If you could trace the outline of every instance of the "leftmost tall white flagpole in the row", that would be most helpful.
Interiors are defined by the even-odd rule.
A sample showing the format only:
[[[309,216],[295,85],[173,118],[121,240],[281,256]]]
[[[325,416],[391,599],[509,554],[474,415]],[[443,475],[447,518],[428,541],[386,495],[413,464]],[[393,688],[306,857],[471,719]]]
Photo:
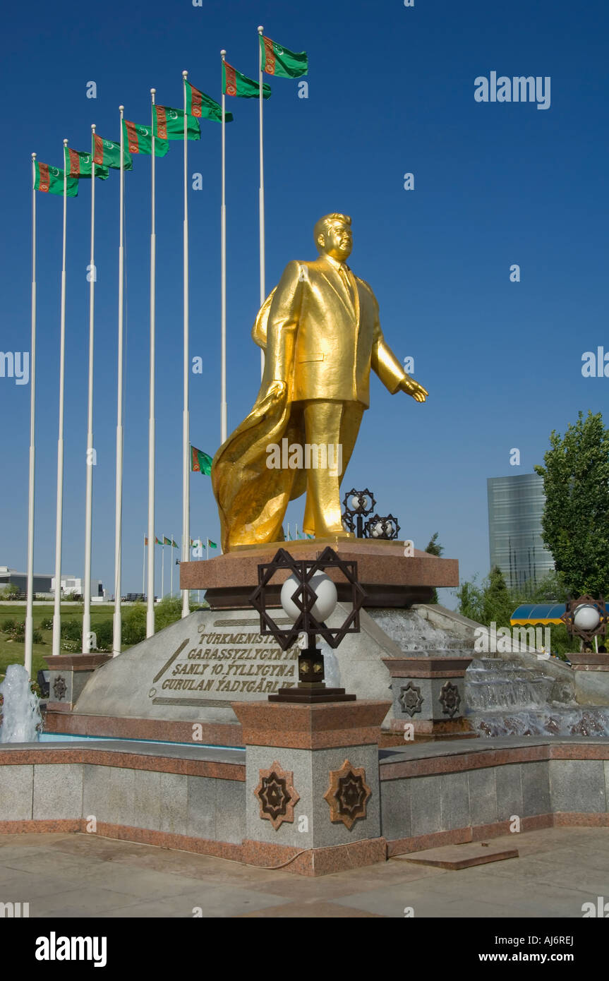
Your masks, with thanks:
[[[36,411],[36,154],[31,155],[31,351],[29,367],[29,486],[27,491],[27,596],[25,603],[25,670],[31,675],[33,647],[33,517]]]

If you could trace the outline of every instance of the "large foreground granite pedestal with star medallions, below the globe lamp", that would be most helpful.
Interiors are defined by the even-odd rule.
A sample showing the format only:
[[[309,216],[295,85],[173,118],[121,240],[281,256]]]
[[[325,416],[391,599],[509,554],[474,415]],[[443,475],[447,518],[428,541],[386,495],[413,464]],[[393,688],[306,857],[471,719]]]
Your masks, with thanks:
[[[246,747],[243,860],[324,875],[384,861],[379,737],[387,701],[237,701]]]

